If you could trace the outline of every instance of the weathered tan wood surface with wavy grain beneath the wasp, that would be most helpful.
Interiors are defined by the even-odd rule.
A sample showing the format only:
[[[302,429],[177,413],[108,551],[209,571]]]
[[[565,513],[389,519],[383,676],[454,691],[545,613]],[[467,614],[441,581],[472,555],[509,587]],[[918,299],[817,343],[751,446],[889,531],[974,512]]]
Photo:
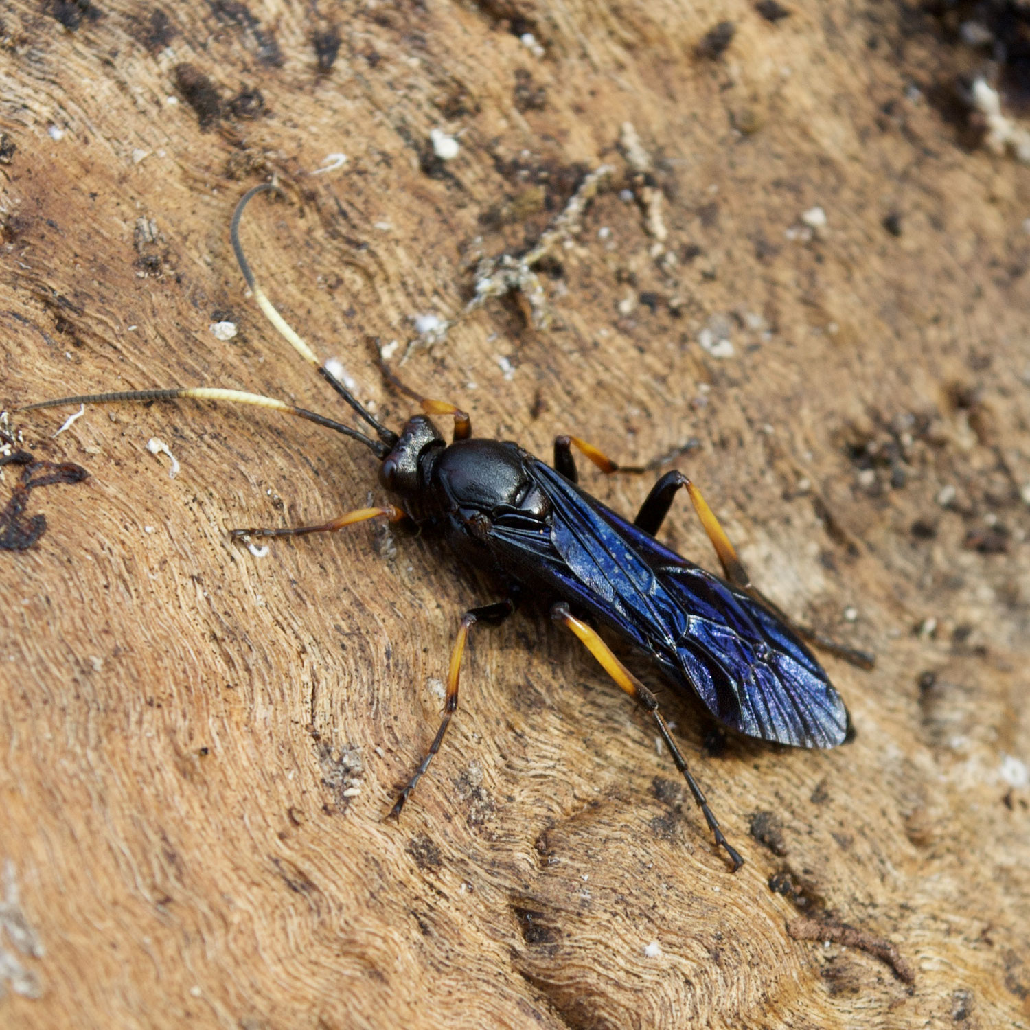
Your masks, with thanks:
[[[255,269],[397,422],[368,338],[454,315],[477,255],[611,164],[539,266],[550,328],[492,300],[404,376],[542,455],[696,438],[676,464],[755,581],[879,655],[826,659],[857,728],[826,753],[727,740],[646,679],[736,877],[650,721],[531,608],[476,630],[393,824],[490,584],[370,525],[231,546],[384,500],[307,423],[14,414],[90,477],[34,490],[47,530],[0,553],[4,1027],[1030,1022],[1028,173],[974,145],[929,14],[758,7],[4,5],[3,407],[204,384],[347,417],[234,265],[233,206],[277,174]],[[623,512],[650,485],[583,479]],[[714,564],[685,503],[662,536]]]

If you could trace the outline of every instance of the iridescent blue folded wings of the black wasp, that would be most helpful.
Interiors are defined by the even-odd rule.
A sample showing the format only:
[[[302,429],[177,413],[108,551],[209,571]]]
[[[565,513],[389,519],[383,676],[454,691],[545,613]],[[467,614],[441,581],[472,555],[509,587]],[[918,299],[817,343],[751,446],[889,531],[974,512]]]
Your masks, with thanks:
[[[530,459],[550,524],[513,513],[490,545],[529,584],[549,587],[689,685],[725,725],[765,741],[831,748],[848,712],[811,652],[761,604],[663,547]]]

